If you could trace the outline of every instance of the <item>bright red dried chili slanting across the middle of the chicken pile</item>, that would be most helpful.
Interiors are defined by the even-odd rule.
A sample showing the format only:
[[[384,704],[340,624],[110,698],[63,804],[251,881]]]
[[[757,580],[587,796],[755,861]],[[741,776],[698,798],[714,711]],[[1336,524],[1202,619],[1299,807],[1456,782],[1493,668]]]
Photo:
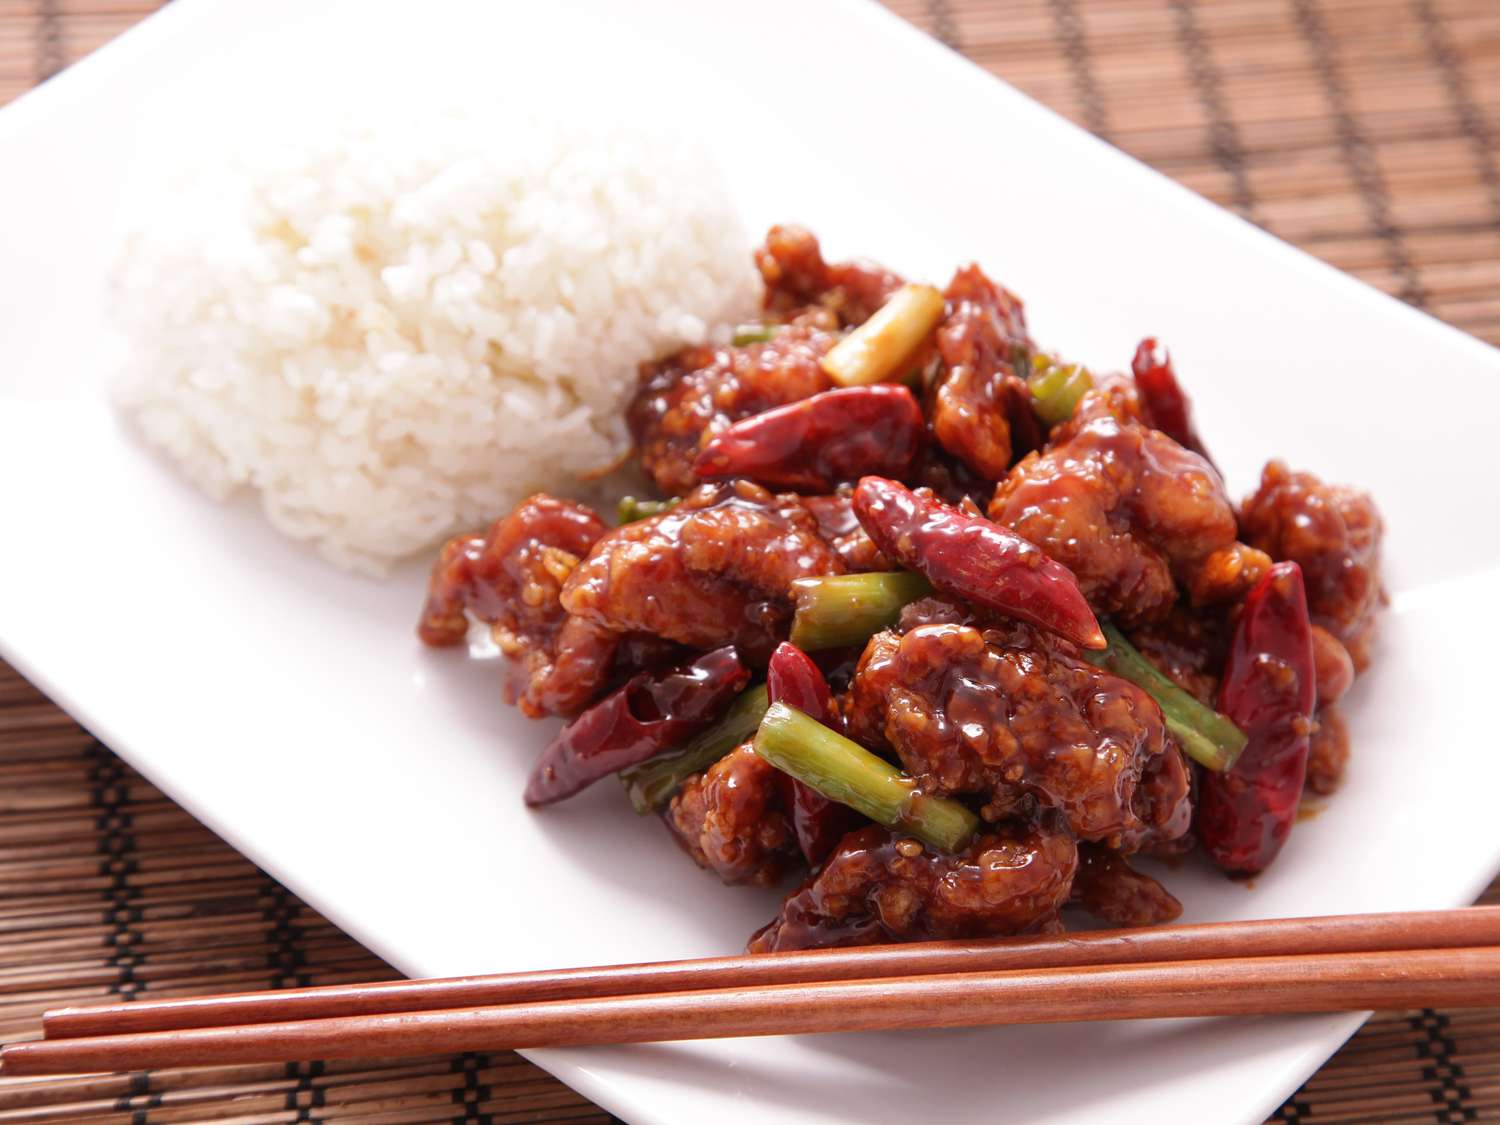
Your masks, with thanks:
[[[1107,648],[1072,572],[1010,528],[882,477],[860,482],[854,512],[886,558],[939,591]]]

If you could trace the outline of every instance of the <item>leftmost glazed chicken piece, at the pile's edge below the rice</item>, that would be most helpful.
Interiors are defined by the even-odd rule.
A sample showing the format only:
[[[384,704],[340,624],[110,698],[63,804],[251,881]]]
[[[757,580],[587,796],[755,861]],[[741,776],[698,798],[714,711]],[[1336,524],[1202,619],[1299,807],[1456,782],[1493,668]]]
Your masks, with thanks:
[[[580,710],[609,680],[620,638],[558,602],[579,560],[608,531],[584,504],[536,495],[484,536],[448,540],[432,568],[418,636],[458,645],[468,618],[506,656],[507,696],[532,718]]]

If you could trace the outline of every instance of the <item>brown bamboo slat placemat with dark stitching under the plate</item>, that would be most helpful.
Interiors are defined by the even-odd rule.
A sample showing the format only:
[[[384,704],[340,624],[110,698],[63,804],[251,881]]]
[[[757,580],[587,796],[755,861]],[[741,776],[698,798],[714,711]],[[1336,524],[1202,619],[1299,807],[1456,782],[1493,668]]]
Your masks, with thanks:
[[[890,3],[1182,183],[1500,344],[1500,2]],[[0,0],[0,102],[158,6]],[[390,975],[0,664],[0,1040],[90,998]],[[0,1125],[74,1120],[609,1116],[514,1054],[0,1080]],[[1500,1012],[1377,1016],[1275,1120],[1500,1120]]]

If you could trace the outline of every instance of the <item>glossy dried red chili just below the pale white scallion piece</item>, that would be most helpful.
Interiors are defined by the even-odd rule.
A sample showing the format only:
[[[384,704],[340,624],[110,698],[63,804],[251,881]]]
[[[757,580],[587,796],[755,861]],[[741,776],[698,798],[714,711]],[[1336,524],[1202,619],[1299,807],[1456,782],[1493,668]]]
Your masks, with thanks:
[[[904,476],[922,447],[921,406],[906,387],[843,387],[741,418],[699,452],[699,477],[746,477],[828,492],[867,472]]]

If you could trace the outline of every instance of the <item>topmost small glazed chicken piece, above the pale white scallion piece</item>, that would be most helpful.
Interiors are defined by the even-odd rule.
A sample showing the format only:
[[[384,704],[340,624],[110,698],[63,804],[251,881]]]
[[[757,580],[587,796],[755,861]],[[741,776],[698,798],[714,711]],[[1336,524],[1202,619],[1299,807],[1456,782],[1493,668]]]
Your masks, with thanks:
[[[874,262],[824,261],[818,238],[802,226],[772,226],[754,260],[766,312],[782,318],[812,306],[832,312],[842,327],[864,324],[903,284]]]

